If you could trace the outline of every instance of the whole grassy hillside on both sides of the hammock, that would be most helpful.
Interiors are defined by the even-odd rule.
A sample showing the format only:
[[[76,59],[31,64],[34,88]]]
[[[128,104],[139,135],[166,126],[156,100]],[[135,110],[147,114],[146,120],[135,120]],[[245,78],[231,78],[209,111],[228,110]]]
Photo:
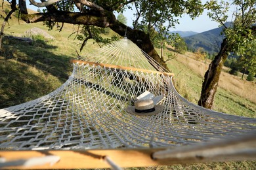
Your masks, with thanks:
[[[5,29],[7,35],[22,37],[24,32],[32,27],[39,27],[47,31],[47,27],[41,23],[25,24],[20,21],[18,24],[15,18],[12,18],[9,24]],[[69,37],[70,33],[76,29],[77,27],[74,25],[66,24],[60,33],[56,29],[47,31],[54,37],[53,40],[35,37],[32,44],[12,39],[4,40],[5,51],[0,55],[0,109],[46,95],[66,81],[72,72],[70,60],[77,57],[75,51],[80,47],[79,41],[74,39],[74,35]],[[90,41],[81,55],[96,48],[98,46]],[[185,55],[179,55],[177,59],[168,61],[167,64],[176,75],[177,90],[192,103],[197,103],[203,74],[208,63],[195,61],[193,54],[188,52]],[[227,79],[236,81],[226,81]],[[253,99],[255,99],[256,84],[248,83],[226,73],[223,73],[221,83],[223,85],[220,84],[218,88],[214,110],[255,118],[256,105]],[[238,83],[240,84],[238,85]],[[231,84],[239,87],[240,90],[232,90]],[[242,88],[243,90],[241,90]],[[147,167],[145,169],[256,169],[256,163],[254,161],[236,161]]]

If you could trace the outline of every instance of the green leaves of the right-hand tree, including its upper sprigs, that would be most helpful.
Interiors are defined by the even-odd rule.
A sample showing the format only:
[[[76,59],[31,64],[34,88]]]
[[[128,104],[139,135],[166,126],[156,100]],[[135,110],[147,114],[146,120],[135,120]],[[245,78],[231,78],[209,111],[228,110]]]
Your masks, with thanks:
[[[234,21],[226,27],[223,33],[228,41],[228,52],[240,56],[238,62],[241,67],[256,73],[256,0],[234,0],[236,6],[233,13]],[[212,20],[224,25],[227,19],[228,3],[215,0],[207,1],[205,8],[210,10],[208,15]]]

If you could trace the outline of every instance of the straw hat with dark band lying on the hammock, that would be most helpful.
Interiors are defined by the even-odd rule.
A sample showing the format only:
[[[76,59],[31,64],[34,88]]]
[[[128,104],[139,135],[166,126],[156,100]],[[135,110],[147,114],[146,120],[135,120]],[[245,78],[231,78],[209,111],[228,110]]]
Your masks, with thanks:
[[[127,107],[127,112],[139,116],[158,114],[163,111],[163,105],[154,105],[152,99],[138,100],[134,106]]]

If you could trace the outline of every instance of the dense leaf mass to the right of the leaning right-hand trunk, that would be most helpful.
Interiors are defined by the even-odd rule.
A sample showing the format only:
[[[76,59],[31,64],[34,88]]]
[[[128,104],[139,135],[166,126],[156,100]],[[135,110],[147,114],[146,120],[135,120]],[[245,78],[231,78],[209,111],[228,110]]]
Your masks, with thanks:
[[[235,20],[224,34],[230,43],[230,52],[240,56],[241,67],[256,74],[256,1],[235,0],[234,5],[237,6]]]

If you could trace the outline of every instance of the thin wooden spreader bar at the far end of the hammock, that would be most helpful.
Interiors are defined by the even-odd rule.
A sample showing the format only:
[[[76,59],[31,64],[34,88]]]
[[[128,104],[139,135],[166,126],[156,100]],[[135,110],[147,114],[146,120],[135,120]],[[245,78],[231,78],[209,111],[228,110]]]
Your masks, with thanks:
[[[167,76],[174,76],[174,73],[167,73],[167,72],[161,72],[161,71],[152,71],[147,69],[138,69],[133,67],[125,67],[125,66],[119,66],[119,65],[111,65],[111,64],[105,64],[105,63],[94,63],[90,61],[81,61],[81,60],[72,60],[73,63],[79,63],[79,64],[89,64],[89,65],[96,65],[100,67],[109,67],[112,69],[122,69],[122,70],[131,70],[131,71],[141,71],[144,73],[155,73],[159,75],[167,75]]]

